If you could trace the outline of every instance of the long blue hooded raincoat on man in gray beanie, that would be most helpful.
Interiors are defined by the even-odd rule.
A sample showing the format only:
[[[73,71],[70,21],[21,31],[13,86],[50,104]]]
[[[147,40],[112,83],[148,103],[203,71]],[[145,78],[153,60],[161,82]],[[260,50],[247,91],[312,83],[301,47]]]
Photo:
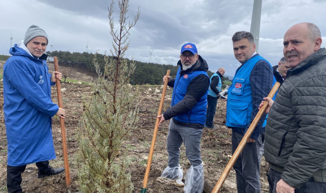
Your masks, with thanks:
[[[51,100],[51,73],[45,60],[24,49],[10,48],[4,65],[4,113],[9,166],[55,159],[52,116],[59,107]]]

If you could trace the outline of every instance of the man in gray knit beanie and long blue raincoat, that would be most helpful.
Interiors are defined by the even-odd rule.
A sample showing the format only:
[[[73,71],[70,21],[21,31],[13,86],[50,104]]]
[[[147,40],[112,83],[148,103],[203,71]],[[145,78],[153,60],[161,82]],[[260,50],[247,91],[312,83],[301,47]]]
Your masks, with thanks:
[[[52,116],[65,118],[65,110],[52,103],[51,86],[61,73],[49,73],[44,54],[48,36],[36,25],[30,26],[25,39],[10,48],[12,55],[4,65],[4,113],[8,142],[7,189],[20,193],[22,172],[36,163],[38,178],[58,174],[64,168],[49,165],[55,159]]]

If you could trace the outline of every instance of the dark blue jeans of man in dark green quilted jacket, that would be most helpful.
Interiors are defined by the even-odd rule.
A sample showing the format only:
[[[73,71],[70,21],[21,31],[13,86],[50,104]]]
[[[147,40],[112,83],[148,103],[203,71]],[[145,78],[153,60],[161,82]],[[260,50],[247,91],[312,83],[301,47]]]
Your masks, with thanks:
[[[268,183],[269,183],[269,193],[276,193],[276,184],[281,179],[282,173],[275,171],[274,169],[269,169],[268,172]],[[304,183],[299,189],[295,189],[294,193],[325,193],[326,192],[326,182],[315,182],[311,178],[308,182]]]

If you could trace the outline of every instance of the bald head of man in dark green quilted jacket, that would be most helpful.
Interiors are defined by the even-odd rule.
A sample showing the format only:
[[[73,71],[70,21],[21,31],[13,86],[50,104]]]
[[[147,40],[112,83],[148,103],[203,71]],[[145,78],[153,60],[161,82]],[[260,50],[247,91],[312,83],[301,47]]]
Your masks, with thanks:
[[[288,29],[283,40],[283,54],[291,68],[320,49],[320,30],[315,24],[295,24]]]

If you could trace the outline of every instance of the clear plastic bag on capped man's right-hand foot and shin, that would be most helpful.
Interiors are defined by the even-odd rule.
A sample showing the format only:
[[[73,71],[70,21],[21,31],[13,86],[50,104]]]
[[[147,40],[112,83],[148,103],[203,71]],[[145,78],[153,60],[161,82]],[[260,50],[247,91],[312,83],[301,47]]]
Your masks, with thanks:
[[[204,168],[203,165],[190,168],[185,175],[185,193],[202,193],[204,190]]]

